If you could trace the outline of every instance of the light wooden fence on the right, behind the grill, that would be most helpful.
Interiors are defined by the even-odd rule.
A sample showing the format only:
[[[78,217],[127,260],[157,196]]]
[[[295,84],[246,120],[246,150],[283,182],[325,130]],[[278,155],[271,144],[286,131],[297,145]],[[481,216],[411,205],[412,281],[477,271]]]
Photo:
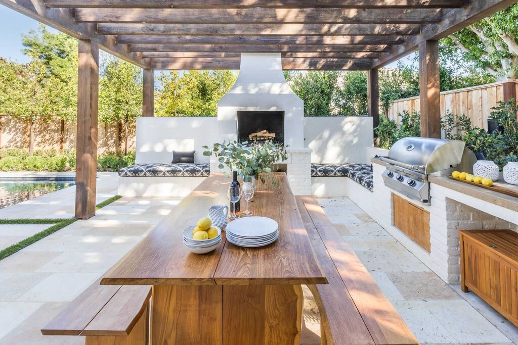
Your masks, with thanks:
[[[515,84],[518,81],[515,81]],[[518,99],[518,87],[517,97]],[[493,83],[441,92],[441,116],[448,111],[454,115],[466,115],[474,126],[487,129],[487,118],[491,117],[491,108],[498,101],[503,101],[503,83]],[[398,113],[403,110],[420,110],[419,96],[398,99],[391,103],[389,118],[400,122]]]

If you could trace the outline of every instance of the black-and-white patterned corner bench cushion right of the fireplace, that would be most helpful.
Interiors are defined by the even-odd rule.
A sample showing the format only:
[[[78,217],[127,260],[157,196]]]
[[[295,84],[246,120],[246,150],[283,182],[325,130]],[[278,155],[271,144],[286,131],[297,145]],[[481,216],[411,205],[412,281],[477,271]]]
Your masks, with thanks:
[[[368,190],[372,191],[372,170],[369,164],[340,163],[340,164],[311,164],[311,177],[344,177],[352,178]]]

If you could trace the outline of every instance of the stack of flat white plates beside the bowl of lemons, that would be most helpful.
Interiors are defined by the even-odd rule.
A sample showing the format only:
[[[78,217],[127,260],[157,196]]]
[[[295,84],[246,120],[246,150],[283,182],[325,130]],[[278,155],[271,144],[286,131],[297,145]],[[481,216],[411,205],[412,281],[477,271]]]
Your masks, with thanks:
[[[279,238],[279,224],[266,217],[243,217],[231,221],[225,229],[228,242],[241,247],[262,247]]]

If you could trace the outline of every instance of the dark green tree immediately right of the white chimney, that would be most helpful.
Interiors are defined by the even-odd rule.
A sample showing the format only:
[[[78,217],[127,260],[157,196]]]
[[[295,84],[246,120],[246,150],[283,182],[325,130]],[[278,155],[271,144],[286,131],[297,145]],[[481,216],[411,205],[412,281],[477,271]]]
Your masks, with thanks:
[[[293,92],[304,101],[305,116],[328,116],[337,88],[338,72],[285,73]]]

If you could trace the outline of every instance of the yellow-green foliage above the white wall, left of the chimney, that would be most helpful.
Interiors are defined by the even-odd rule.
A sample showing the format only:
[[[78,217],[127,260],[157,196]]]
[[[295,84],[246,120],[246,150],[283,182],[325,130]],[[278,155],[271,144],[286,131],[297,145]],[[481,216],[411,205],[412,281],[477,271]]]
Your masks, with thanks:
[[[215,116],[218,101],[236,82],[232,71],[162,73],[156,97],[157,116]]]

